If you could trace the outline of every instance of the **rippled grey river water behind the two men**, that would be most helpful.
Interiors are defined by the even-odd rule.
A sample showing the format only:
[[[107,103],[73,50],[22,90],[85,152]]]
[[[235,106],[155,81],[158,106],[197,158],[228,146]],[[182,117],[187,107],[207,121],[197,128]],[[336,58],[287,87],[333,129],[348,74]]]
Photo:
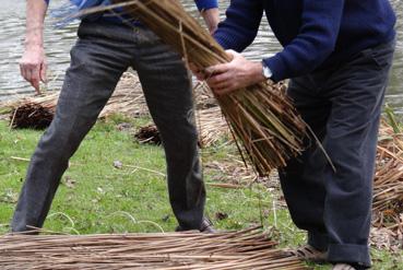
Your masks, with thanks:
[[[38,0],[39,1],[39,0]],[[186,8],[195,16],[198,14],[193,0],[182,0]],[[220,1],[222,11],[228,5],[228,0]],[[63,2],[51,0],[50,9],[58,8]],[[398,44],[387,94],[387,103],[403,114],[403,0],[391,0],[398,13]],[[19,60],[23,52],[25,28],[25,1],[0,0],[0,101],[33,94],[33,89],[20,77]],[[222,12],[224,15],[224,12]],[[69,50],[74,44],[79,22],[63,28],[56,28],[52,19],[47,17],[45,27],[45,47],[48,59],[48,90],[60,89],[63,74],[69,66]],[[263,19],[259,35],[245,55],[250,59],[261,59],[281,49],[266,21]]]

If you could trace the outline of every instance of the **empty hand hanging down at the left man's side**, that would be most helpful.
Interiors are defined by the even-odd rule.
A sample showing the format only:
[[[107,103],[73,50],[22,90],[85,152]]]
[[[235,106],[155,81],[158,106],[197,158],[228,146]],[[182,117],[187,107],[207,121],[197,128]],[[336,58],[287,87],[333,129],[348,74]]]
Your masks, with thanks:
[[[20,60],[21,75],[40,94],[39,82],[46,82],[46,57],[42,45],[27,45]]]

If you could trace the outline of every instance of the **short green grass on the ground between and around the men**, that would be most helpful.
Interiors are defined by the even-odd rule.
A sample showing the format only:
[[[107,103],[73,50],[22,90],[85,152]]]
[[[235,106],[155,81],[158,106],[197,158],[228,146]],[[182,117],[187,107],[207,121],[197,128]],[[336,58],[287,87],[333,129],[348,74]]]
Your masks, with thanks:
[[[135,142],[131,131],[119,131],[117,125],[130,122],[134,129],[149,119],[129,120],[115,116],[98,122],[83,141],[62,177],[47,230],[71,234],[174,231],[165,174],[164,152],[161,146]],[[0,121],[0,233],[8,232],[9,221],[25,177],[27,162],[43,132],[9,130]],[[204,162],[222,161],[227,153],[236,153],[234,145],[218,143],[202,153]],[[116,168],[114,162],[123,164]],[[128,166],[126,166],[128,165]],[[135,169],[134,167],[140,167]],[[216,183],[220,172],[205,171],[206,183]],[[297,230],[284,208],[273,208],[278,191],[268,191],[262,184],[244,189],[222,189],[208,185],[206,213],[218,230],[238,230],[263,224],[266,232],[282,247],[305,243],[305,234]],[[227,215],[218,220],[218,213]],[[393,255],[372,249],[374,269],[399,269],[403,253]],[[315,266],[315,269],[330,269]],[[403,269],[401,267],[400,269]]]

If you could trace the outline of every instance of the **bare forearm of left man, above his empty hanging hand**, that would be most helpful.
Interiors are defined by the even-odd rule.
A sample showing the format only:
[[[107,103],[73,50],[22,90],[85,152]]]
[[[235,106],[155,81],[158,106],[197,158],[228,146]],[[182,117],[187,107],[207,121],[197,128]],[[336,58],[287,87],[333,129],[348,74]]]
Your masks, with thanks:
[[[44,21],[47,11],[44,0],[26,1],[26,36],[25,47],[44,45]]]

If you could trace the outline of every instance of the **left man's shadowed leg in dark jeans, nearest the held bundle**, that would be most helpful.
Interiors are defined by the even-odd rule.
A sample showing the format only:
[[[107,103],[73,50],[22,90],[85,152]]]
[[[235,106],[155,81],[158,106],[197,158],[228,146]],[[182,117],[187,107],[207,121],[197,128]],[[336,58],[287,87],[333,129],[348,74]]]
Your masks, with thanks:
[[[141,28],[133,66],[162,136],[174,213],[181,230],[200,230],[205,189],[188,71],[178,54]]]

